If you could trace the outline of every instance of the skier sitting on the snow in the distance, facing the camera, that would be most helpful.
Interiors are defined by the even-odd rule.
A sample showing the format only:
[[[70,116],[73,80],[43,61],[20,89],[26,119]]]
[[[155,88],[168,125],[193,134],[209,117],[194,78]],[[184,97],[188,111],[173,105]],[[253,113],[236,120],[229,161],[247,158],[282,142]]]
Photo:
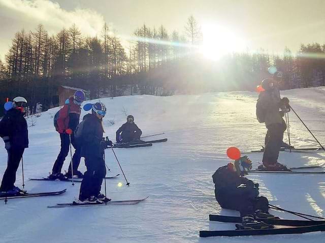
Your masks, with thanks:
[[[133,141],[139,141],[142,131],[134,123],[134,116],[128,115],[126,117],[126,123],[122,125],[116,131],[116,142],[117,143],[128,143]]]

